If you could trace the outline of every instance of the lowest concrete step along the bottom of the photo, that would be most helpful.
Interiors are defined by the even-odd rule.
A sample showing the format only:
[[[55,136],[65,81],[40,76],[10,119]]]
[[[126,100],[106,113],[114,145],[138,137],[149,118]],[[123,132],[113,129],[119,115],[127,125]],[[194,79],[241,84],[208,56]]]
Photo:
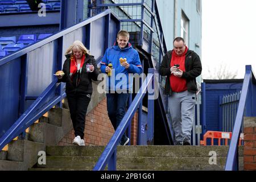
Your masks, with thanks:
[[[92,170],[98,157],[47,156],[45,169]],[[117,170],[223,170],[226,158],[218,157],[216,165],[209,164],[209,157],[122,157],[117,158]],[[243,158],[240,158],[242,169]]]

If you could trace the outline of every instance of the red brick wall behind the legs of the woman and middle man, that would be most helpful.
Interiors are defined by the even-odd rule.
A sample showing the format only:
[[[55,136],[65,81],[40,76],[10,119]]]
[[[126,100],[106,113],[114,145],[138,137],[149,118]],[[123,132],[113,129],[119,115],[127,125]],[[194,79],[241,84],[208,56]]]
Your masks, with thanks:
[[[131,124],[131,144],[137,140],[137,118],[135,113]],[[114,128],[109,120],[106,98],[86,115],[84,140],[86,146],[106,146],[114,134]],[[75,138],[74,130],[60,140],[59,146],[71,146]]]

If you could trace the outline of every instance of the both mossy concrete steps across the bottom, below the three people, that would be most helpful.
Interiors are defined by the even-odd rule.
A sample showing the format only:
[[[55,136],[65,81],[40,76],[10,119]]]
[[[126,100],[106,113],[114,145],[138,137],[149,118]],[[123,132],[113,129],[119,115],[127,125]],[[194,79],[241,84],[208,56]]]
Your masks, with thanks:
[[[47,146],[46,165],[30,171],[92,170],[104,146]],[[217,164],[209,164],[216,151]],[[117,170],[223,170],[228,146],[118,146]],[[243,148],[239,148],[243,170]]]

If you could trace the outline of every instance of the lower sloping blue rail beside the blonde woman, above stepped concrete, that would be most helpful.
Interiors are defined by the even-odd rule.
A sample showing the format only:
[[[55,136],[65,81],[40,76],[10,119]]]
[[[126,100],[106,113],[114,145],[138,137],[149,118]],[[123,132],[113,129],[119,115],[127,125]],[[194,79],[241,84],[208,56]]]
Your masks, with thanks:
[[[60,84],[57,83],[57,78],[44,90],[42,94],[28,107],[28,109],[20,116],[20,118],[6,131],[0,138],[0,149],[6,146],[11,140],[17,137],[22,131],[30,127],[37,119],[42,117],[49,109],[61,101],[65,97],[56,96],[57,88]],[[48,98],[51,97],[51,98]]]

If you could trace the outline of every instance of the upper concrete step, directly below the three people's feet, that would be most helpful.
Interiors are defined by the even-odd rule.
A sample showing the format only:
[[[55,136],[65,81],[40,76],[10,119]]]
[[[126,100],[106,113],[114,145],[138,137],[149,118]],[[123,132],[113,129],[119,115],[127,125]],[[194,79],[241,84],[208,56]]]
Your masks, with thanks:
[[[47,146],[46,153],[51,156],[100,156],[105,146]],[[226,157],[228,146],[118,146],[117,156],[122,157],[209,157],[215,151],[217,157]],[[243,155],[243,147],[239,148]]]

